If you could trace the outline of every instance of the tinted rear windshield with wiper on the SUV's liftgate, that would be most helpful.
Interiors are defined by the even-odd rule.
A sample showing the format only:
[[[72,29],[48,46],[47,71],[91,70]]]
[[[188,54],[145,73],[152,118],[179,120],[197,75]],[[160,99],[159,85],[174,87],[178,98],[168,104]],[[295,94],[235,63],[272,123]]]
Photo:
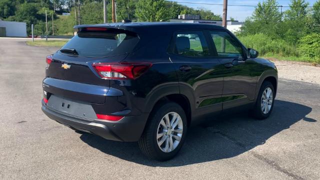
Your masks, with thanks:
[[[139,40],[138,35],[133,32],[105,29],[86,30],[83,28],[61,49],[75,49],[79,56],[105,57],[129,53]],[[62,52],[59,51],[59,53]]]

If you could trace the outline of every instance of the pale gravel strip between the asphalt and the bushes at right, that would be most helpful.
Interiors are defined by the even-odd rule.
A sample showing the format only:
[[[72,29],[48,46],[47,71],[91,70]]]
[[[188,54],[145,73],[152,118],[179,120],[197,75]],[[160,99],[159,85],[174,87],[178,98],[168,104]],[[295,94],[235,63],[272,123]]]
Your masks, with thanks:
[[[306,62],[272,60],[278,69],[278,77],[320,84],[320,66]]]

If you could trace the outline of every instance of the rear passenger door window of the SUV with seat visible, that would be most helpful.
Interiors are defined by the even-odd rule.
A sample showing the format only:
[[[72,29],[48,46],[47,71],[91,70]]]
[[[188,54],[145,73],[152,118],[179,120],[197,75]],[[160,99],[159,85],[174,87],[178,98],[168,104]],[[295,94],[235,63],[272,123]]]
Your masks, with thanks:
[[[176,54],[184,56],[209,56],[208,46],[202,31],[177,33],[174,48]]]

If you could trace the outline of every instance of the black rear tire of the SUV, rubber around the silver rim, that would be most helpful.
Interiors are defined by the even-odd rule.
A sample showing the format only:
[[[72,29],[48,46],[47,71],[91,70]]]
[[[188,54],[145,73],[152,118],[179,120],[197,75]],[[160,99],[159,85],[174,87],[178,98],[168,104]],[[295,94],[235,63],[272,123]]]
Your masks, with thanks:
[[[174,150],[170,152],[163,152],[157,144],[157,131],[160,120],[164,117],[165,114],[169,112],[176,112],[180,115],[182,123],[183,123],[183,130],[181,140],[179,141],[178,145],[174,148]],[[144,131],[138,141],[139,147],[143,154],[145,154],[150,159],[155,159],[159,161],[164,161],[171,159],[176,155],[176,153],[180,150],[184,138],[187,131],[187,120],[184,110],[181,108],[180,105],[174,102],[165,102],[159,105],[156,105],[150,116],[148,118],[147,124],[144,128]]]

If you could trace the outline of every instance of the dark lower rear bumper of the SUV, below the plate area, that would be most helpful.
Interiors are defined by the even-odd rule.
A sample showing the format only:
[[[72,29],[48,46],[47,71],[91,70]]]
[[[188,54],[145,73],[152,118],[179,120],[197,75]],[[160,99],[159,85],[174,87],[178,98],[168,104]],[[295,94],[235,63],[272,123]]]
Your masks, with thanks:
[[[118,121],[85,119],[56,111],[42,100],[42,111],[51,119],[72,129],[89,132],[105,139],[116,141],[137,141],[144,129],[148,114],[126,116]]]

